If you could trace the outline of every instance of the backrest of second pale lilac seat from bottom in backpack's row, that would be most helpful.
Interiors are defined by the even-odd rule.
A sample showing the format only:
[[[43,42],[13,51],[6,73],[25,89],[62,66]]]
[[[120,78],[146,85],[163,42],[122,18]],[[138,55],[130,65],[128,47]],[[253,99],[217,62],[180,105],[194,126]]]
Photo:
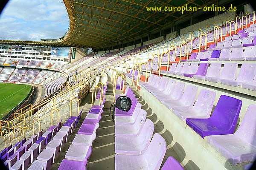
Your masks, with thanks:
[[[154,132],[154,123],[150,119],[146,119],[146,121],[140,131],[140,134],[137,137],[138,144],[142,148],[146,149],[148,147],[148,145],[151,141],[153,132]]]

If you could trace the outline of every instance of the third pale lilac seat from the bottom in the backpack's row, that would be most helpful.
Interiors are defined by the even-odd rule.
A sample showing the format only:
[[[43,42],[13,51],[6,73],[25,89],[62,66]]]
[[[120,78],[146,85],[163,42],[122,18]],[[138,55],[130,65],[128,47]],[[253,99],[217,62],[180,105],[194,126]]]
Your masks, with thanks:
[[[116,136],[138,136],[140,130],[142,129],[145,119],[146,119],[146,111],[141,109],[140,112],[143,112],[141,117],[138,117],[133,125],[115,125],[115,135]]]

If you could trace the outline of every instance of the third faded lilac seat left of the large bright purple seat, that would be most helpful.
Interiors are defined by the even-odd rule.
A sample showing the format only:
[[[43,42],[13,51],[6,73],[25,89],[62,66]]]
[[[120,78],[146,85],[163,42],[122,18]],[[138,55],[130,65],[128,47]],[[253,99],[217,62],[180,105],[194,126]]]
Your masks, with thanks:
[[[172,100],[180,99],[185,87],[185,83],[175,82],[171,79],[169,80],[168,85],[170,85],[169,88],[167,88],[166,91],[164,91],[166,93],[156,95],[156,98],[160,100],[162,103],[168,99],[172,99]]]

